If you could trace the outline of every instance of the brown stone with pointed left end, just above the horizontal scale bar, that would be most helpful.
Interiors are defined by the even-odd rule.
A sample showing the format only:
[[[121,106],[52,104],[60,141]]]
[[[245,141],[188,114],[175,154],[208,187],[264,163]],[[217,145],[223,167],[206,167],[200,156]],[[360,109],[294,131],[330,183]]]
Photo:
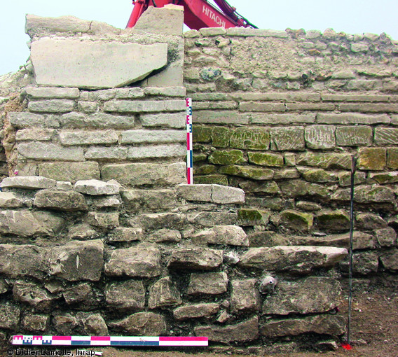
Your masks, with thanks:
[[[167,333],[165,318],[153,312],[137,312],[108,325],[131,336],[164,336]]]

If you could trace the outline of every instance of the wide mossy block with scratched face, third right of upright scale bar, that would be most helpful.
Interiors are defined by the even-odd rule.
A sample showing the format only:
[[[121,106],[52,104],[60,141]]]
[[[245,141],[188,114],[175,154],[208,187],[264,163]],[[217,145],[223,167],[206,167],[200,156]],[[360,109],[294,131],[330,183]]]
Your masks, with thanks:
[[[270,130],[238,128],[231,132],[229,143],[231,148],[268,150],[270,147]]]

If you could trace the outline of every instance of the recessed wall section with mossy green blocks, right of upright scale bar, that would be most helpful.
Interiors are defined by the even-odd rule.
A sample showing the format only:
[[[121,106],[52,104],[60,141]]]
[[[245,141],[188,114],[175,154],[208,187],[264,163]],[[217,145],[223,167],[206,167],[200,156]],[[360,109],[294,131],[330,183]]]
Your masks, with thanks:
[[[348,247],[354,156],[355,274],[396,272],[397,41],[331,29],[185,38],[194,182],[245,190],[250,246]]]

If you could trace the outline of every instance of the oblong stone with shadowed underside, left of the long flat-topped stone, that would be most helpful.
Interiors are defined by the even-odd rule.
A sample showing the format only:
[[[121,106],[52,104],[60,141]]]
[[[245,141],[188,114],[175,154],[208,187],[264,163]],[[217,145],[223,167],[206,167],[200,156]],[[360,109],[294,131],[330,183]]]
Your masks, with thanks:
[[[222,251],[210,248],[179,248],[172,252],[167,267],[171,269],[214,269],[221,265],[222,253]]]

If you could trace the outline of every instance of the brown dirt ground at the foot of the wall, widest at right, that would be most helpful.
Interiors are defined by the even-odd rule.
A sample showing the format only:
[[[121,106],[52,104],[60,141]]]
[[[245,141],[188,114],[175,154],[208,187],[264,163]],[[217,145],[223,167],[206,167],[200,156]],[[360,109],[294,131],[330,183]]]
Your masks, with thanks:
[[[355,286],[355,285],[354,285]],[[352,297],[352,350],[341,346],[336,351],[300,352],[261,355],[263,357],[398,357],[398,277],[380,281],[371,286],[360,286]],[[348,288],[346,289],[348,290]],[[340,306],[340,313],[347,316],[348,300]],[[10,346],[8,346],[10,347]],[[95,348],[103,351],[103,357],[245,357],[249,355],[212,353],[206,347],[185,353],[182,349],[114,349]],[[74,350],[75,352],[76,350]],[[15,355],[15,352],[14,352]],[[6,354],[4,356],[7,356]],[[74,356],[74,353],[73,355]],[[250,355],[253,357],[254,355]]]

